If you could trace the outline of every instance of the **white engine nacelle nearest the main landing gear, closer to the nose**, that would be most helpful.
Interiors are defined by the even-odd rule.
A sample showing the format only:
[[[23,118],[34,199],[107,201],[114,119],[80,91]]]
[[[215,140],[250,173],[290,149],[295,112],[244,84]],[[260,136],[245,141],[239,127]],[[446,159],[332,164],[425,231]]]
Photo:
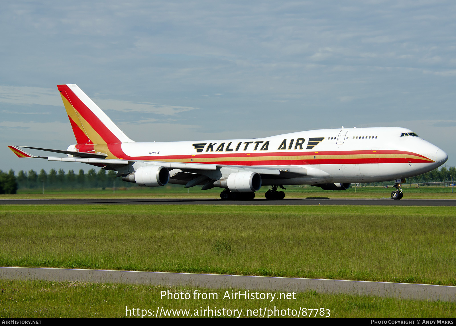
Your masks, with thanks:
[[[214,181],[214,186],[228,188],[233,193],[251,193],[261,188],[261,176],[251,171],[231,173]]]

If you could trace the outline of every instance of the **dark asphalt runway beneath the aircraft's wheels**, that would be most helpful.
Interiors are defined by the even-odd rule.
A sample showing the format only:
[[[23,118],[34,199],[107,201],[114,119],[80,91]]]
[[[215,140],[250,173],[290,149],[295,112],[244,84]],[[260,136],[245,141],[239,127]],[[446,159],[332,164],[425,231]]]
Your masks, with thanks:
[[[0,205],[380,205],[456,206],[456,199],[0,199]]]

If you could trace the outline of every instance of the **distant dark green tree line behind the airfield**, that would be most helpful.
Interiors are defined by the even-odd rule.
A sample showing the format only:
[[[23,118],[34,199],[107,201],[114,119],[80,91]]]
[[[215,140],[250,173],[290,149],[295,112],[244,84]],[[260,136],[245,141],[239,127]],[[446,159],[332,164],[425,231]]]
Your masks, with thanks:
[[[67,173],[63,169],[58,171],[51,169],[47,173],[41,169],[39,173],[33,169],[25,172],[23,170],[15,175],[10,169],[8,173],[0,170],[0,194],[16,194],[20,188],[111,188],[111,187],[134,187],[135,183],[123,182],[120,178],[116,178],[116,172],[109,170],[99,170],[91,168],[87,173],[80,169],[78,173],[73,170],[68,170]],[[433,182],[448,182],[451,177],[456,182],[456,168],[442,167],[430,172],[421,174],[417,177],[407,178],[407,183],[433,183]],[[381,186],[390,185],[392,181],[369,183],[370,185]]]

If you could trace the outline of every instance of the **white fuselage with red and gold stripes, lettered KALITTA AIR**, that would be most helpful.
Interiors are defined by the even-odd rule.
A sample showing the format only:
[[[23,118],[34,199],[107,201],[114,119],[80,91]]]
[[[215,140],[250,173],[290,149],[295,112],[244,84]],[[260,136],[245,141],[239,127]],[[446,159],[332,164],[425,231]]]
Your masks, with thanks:
[[[121,143],[109,152],[108,158],[138,161],[309,171],[302,177],[291,173],[286,180],[266,177],[264,185],[409,178],[439,167],[448,158],[442,149],[400,127],[320,129],[252,139]]]

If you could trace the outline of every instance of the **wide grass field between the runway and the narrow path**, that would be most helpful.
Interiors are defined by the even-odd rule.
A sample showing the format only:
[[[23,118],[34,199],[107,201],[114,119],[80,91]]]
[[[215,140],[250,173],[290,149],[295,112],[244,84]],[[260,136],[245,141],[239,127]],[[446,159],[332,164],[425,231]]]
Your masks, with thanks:
[[[0,206],[0,265],[456,285],[456,208]]]

